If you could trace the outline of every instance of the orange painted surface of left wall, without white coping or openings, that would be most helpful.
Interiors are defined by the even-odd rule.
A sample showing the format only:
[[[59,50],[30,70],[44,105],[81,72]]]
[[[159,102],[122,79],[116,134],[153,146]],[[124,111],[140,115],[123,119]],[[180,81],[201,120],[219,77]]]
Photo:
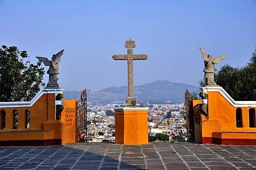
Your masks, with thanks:
[[[13,145],[19,146],[19,141],[43,141],[53,142],[49,145],[75,142],[76,131],[76,100],[65,100],[61,120],[55,120],[55,94],[42,94],[31,107],[5,107],[6,113],[5,129],[0,129],[0,143],[12,141]],[[18,129],[14,129],[13,110],[18,111]],[[30,111],[30,128],[27,129],[26,110]],[[0,116],[2,128],[2,115]],[[15,142],[17,143],[15,144]],[[56,142],[57,141],[57,142]],[[5,143],[6,143],[5,142]],[[23,142],[22,145],[24,145]],[[29,142],[33,145],[33,142]],[[26,144],[25,144],[26,145]],[[43,144],[44,145],[44,144]]]

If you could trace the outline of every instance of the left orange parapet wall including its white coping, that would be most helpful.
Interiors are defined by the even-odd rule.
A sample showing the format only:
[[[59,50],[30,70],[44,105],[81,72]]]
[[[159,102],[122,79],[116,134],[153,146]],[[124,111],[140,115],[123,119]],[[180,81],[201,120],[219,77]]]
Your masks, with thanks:
[[[0,103],[0,146],[74,142],[76,101],[64,104],[61,120],[55,119],[55,96],[62,92],[63,89],[44,89],[31,101]]]

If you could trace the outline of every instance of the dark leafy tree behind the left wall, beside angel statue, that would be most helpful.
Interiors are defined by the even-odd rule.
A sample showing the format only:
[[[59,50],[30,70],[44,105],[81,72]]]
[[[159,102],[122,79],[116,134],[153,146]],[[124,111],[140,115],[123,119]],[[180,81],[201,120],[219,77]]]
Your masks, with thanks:
[[[30,63],[27,52],[17,47],[0,48],[0,101],[30,101],[44,86],[41,62]]]

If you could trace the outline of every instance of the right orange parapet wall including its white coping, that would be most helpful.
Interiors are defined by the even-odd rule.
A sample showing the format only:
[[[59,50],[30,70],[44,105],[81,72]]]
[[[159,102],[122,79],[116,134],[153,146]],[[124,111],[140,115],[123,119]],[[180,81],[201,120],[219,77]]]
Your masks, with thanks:
[[[256,145],[256,101],[235,101],[222,87],[201,90],[207,94],[209,118],[198,114],[197,105],[193,105],[196,142]]]

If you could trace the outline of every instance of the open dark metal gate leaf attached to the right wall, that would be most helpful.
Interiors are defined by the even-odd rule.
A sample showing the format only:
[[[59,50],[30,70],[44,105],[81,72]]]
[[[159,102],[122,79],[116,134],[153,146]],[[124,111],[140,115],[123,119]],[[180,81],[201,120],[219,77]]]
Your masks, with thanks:
[[[195,142],[194,138],[194,116],[193,104],[188,89],[185,92],[186,121],[187,121],[187,137],[188,142]]]

